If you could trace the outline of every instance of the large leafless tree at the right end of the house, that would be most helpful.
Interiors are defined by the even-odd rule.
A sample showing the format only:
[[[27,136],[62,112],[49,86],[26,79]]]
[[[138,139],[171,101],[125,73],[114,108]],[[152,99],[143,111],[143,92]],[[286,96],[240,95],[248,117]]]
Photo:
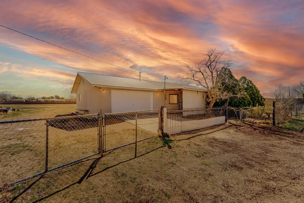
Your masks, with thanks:
[[[221,60],[223,54],[224,51],[210,49],[202,61],[195,63],[194,66],[187,66],[188,76],[179,76],[182,79],[192,80],[207,89],[209,108],[212,108],[218,99],[225,100],[232,96],[242,96],[232,95],[225,91],[226,85],[233,85],[231,83],[235,81],[225,77],[226,71],[223,71],[223,77],[219,77],[222,73],[221,70],[229,69],[232,65],[230,60]]]

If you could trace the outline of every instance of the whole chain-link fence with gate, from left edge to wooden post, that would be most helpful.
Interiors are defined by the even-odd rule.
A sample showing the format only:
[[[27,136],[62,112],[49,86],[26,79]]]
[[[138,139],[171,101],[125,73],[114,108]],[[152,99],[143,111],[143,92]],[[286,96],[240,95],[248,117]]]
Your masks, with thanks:
[[[149,143],[157,136],[159,116],[156,109],[103,117],[100,113],[2,121],[0,185],[14,184],[124,146],[128,146],[124,150],[134,150],[136,156],[138,143]]]

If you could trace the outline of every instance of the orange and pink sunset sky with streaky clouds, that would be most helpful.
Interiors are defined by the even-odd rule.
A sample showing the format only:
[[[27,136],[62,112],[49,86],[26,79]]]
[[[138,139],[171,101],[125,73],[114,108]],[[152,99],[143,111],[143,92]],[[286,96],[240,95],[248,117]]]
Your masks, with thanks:
[[[224,50],[236,78],[264,96],[304,80],[303,0],[2,0],[0,24],[168,82],[184,83],[176,76],[210,48]],[[78,71],[138,78],[0,27],[0,92],[68,97]]]

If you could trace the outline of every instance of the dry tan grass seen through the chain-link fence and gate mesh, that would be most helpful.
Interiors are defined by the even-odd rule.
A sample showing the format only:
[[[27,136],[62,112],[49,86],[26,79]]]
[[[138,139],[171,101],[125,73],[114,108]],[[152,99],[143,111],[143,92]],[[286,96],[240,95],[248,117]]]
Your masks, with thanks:
[[[54,121],[60,123],[60,120]],[[31,121],[0,125],[0,185],[44,171],[45,123]],[[137,140],[157,135],[140,127],[137,131]],[[105,136],[106,149],[135,142],[135,125],[128,122],[107,125]],[[67,131],[49,126],[48,169],[97,153],[97,140],[97,128]]]

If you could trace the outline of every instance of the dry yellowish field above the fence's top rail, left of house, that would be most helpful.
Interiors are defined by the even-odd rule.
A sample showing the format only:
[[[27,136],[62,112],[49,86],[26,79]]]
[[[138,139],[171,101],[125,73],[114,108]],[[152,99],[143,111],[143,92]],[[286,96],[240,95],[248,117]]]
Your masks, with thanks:
[[[12,114],[0,114],[0,121],[7,121],[69,114],[75,111],[76,104],[0,104],[0,107],[20,109]]]

